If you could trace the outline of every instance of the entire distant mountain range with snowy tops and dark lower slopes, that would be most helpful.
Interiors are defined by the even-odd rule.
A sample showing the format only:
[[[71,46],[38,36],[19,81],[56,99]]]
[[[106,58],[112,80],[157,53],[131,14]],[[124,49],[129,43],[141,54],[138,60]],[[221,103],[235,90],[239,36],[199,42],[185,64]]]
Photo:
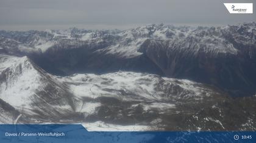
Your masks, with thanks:
[[[28,56],[54,75],[148,72],[251,96],[256,92],[255,29],[255,22],[248,22],[225,27],[152,24],[129,30],[0,31],[0,52]]]

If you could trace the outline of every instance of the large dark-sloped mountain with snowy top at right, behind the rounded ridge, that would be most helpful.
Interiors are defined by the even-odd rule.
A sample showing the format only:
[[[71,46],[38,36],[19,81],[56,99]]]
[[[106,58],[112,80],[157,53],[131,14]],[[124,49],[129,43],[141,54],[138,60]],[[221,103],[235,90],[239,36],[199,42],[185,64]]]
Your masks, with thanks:
[[[231,95],[254,95],[256,24],[197,28],[185,38],[149,39],[141,52],[166,76],[213,84]]]

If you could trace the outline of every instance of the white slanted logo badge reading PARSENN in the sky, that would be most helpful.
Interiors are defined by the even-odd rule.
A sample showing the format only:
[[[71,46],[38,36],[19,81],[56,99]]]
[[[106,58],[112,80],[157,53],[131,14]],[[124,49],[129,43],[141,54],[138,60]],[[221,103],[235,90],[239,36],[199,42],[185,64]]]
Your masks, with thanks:
[[[229,13],[254,13],[252,3],[224,3]]]

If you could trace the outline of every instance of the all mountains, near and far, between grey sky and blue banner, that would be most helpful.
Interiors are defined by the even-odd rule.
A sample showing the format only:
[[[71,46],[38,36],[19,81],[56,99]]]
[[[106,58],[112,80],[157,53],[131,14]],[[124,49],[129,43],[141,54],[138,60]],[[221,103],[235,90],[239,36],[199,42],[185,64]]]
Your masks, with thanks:
[[[0,122],[255,130],[255,29],[0,31]]]

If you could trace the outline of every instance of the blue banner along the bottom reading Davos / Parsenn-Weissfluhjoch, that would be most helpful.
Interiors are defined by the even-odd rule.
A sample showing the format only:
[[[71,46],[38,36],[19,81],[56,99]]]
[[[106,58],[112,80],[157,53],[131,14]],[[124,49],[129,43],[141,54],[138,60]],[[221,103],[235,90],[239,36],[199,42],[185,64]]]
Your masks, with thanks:
[[[0,125],[0,142],[256,142],[255,131],[87,131],[79,124]]]

